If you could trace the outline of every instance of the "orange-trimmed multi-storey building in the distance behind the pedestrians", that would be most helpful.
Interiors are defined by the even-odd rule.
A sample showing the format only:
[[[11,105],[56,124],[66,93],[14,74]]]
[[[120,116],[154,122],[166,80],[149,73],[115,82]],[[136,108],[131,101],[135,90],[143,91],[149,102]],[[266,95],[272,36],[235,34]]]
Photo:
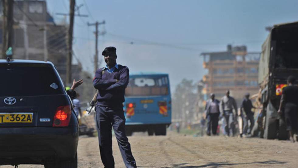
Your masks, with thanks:
[[[208,69],[208,74],[203,77],[206,87],[205,99],[210,93],[214,93],[220,99],[230,90],[237,104],[246,92],[255,94],[258,92],[258,63],[260,52],[247,52],[246,46],[227,46],[224,52],[201,53],[204,59],[203,67]]]

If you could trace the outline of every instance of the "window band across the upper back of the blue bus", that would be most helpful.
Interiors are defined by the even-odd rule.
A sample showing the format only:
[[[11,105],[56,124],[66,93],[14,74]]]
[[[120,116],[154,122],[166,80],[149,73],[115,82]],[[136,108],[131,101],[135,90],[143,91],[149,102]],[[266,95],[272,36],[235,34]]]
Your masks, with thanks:
[[[125,96],[168,95],[168,77],[131,77],[125,90]]]

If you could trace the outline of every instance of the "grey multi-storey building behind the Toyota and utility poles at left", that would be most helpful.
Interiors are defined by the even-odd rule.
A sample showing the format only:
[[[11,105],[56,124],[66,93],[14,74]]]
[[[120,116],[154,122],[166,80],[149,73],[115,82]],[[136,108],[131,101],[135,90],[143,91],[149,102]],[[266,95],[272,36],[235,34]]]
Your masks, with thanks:
[[[2,1],[0,1],[0,13]],[[66,79],[68,25],[57,25],[47,12],[46,1],[23,0],[13,4],[13,59],[51,61],[61,78]],[[0,37],[2,37],[0,18]],[[0,38],[2,48],[2,38]],[[2,50],[0,50],[2,54]],[[81,66],[72,65],[73,78],[80,78]],[[74,73],[76,72],[76,73]]]

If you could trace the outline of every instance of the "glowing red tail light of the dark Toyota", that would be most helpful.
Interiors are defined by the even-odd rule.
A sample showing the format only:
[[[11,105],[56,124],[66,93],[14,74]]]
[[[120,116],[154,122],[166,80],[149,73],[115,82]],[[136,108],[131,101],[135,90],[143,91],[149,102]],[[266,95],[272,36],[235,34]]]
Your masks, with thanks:
[[[53,127],[67,127],[71,117],[71,106],[60,106],[56,109]]]

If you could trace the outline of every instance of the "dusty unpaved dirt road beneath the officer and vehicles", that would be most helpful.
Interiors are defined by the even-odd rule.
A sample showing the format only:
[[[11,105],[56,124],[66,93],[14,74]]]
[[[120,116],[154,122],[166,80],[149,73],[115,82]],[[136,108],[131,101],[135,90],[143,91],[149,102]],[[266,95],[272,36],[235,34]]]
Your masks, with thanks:
[[[297,167],[298,143],[259,138],[193,137],[169,132],[167,136],[136,134],[129,137],[138,167]],[[115,166],[125,167],[113,137]],[[0,166],[11,168],[12,166]],[[19,165],[19,168],[42,168]],[[103,167],[97,137],[80,137],[78,167]]]

